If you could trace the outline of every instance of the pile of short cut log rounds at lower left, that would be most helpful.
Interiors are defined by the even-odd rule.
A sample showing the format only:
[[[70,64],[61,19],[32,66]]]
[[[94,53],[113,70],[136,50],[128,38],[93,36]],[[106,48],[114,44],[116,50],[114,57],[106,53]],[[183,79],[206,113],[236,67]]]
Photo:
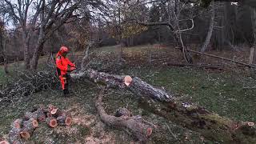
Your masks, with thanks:
[[[22,138],[29,139],[38,127],[38,122],[46,122],[48,126],[54,128],[58,125],[70,126],[72,118],[53,105],[47,108],[40,106],[38,109],[26,112],[24,118],[18,118],[10,125],[9,142],[18,144],[21,143]],[[9,142],[1,141],[0,144]]]

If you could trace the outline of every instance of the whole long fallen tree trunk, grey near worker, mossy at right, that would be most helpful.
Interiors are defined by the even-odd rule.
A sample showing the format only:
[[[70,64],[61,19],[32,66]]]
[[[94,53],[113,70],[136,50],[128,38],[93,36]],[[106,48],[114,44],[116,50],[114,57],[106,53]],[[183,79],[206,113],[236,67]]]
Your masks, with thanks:
[[[188,102],[182,103],[164,90],[155,88],[140,78],[130,78],[131,82],[125,83],[125,76],[106,74],[95,70],[85,70],[78,74],[70,74],[70,76],[74,79],[87,78],[107,87],[130,90],[144,99],[144,102],[141,102],[143,109],[180,126],[198,131],[207,139],[226,143],[256,142],[255,126],[220,117],[201,106],[195,106]],[[152,99],[156,102],[153,102]]]

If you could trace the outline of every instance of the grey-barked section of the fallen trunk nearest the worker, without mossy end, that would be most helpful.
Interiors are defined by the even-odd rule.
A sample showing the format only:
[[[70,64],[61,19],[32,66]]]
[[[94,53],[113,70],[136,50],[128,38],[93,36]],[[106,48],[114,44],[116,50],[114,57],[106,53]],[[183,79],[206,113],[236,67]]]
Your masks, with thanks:
[[[70,74],[70,77],[73,79],[88,78],[92,82],[96,82],[111,88],[130,90],[138,96],[150,97],[162,102],[170,101],[173,98],[164,90],[155,88],[137,77],[132,78],[129,86],[126,86],[125,84],[126,76],[124,75],[106,74],[92,69],[81,71],[77,74]]]

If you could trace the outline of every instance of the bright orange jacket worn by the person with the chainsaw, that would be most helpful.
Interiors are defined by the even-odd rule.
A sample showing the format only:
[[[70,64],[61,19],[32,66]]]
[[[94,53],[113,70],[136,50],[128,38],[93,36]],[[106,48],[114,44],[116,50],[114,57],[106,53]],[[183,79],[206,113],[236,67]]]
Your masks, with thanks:
[[[56,56],[56,66],[61,71],[61,75],[66,74],[68,66],[75,67],[74,63],[70,62],[69,58],[64,58],[59,53]]]

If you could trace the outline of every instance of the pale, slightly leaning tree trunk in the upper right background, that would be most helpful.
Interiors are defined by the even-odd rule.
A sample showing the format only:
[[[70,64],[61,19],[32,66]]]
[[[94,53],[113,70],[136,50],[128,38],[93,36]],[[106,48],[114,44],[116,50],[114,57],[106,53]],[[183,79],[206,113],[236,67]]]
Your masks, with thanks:
[[[207,49],[207,46],[210,43],[210,38],[213,34],[213,30],[214,30],[214,16],[215,16],[215,10],[214,10],[214,2],[212,2],[212,11],[211,11],[211,17],[210,17],[210,26],[209,26],[209,30],[206,36],[206,41],[203,43],[202,48],[201,48],[201,52],[205,52]]]

